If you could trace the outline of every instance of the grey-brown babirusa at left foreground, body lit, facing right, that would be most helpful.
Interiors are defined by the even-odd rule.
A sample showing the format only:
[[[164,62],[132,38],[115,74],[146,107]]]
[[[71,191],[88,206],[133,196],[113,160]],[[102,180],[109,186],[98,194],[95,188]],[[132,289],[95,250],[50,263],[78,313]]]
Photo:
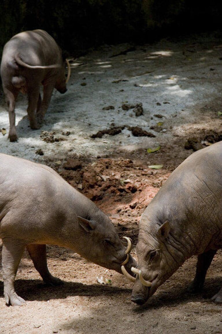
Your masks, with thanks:
[[[14,290],[24,249],[47,284],[61,284],[46,261],[46,244],[68,247],[121,273],[126,247],[109,217],[53,169],[0,154],[0,238],[4,296],[8,305],[25,301]],[[130,256],[128,272],[136,262]]]

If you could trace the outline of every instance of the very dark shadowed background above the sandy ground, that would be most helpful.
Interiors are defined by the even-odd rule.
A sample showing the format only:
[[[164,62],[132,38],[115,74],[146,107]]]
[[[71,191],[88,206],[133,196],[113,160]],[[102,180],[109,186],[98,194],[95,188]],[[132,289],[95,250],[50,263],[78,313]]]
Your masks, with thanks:
[[[14,34],[38,28],[78,55],[103,43],[220,30],[221,22],[218,0],[1,0],[0,52]]]

